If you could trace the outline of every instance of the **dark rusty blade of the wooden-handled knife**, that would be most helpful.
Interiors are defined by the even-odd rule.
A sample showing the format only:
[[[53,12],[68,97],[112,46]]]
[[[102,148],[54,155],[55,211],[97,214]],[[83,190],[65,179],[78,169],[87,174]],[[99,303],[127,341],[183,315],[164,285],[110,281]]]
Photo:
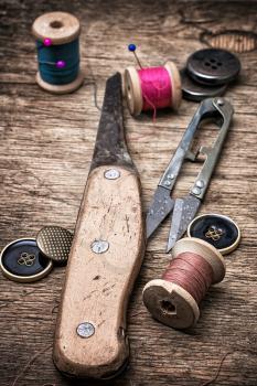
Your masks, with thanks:
[[[105,98],[90,170],[108,164],[135,170],[124,130],[121,82],[119,73],[110,76],[106,82]]]

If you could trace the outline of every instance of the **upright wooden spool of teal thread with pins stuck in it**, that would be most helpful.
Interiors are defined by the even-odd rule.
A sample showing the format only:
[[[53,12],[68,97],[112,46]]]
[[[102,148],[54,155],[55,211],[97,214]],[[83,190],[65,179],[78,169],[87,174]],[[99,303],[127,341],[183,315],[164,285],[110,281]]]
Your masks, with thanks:
[[[44,13],[34,21],[40,87],[53,94],[67,94],[82,85],[79,32],[79,21],[66,12]]]

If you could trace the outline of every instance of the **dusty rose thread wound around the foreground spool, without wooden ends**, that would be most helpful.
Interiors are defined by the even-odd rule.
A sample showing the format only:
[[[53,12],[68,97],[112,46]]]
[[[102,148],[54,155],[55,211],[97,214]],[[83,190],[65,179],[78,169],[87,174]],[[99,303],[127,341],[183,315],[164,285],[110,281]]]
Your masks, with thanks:
[[[185,289],[200,304],[213,281],[213,269],[202,256],[183,253],[170,261],[162,279]]]

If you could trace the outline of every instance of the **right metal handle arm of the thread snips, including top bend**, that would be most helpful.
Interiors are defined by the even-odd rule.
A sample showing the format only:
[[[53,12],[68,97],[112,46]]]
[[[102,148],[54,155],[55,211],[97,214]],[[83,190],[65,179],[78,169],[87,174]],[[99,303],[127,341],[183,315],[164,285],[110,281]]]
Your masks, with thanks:
[[[232,105],[224,98],[214,98],[212,103],[216,111],[221,114],[223,122],[222,126],[218,128],[219,132],[214,146],[212,148],[202,147],[200,149],[200,153],[206,154],[206,159],[194,182],[193,187],[190,191],[190,194],[194,195],[200,200],[202,200],[204,197],[204,194],[206,193],[213,170],[219,158],[222,147],[225,141],[234,114]]]

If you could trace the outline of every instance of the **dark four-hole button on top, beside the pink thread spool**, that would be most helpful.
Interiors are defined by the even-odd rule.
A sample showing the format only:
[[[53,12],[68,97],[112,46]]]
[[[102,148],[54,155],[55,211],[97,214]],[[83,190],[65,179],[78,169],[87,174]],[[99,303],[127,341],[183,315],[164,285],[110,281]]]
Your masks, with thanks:
[[[206,49],[194,52],[186,63],[189,75],[207,85],[224,85],[236,78],[239,60],[228,51]]]

